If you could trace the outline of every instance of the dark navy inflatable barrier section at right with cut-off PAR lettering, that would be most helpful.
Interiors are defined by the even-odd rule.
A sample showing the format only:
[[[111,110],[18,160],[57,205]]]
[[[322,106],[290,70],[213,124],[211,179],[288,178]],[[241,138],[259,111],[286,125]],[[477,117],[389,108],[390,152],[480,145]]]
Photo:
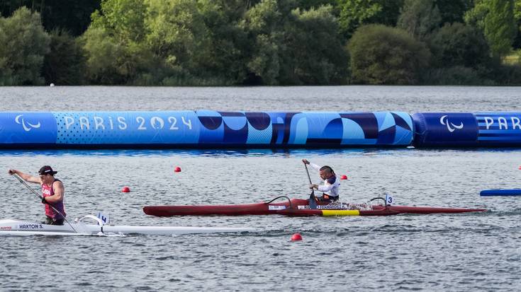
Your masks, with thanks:
[[[417,147],[521,146],[521,112],[422,112],[413,121]]]

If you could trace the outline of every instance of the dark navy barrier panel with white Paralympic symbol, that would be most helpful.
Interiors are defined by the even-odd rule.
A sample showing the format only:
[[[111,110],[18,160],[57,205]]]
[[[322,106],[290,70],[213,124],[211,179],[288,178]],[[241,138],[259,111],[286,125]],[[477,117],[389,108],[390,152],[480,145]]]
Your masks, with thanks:
[[[478,122],[470,112],[420,112],[413,121],[417,147],[477,146]]]

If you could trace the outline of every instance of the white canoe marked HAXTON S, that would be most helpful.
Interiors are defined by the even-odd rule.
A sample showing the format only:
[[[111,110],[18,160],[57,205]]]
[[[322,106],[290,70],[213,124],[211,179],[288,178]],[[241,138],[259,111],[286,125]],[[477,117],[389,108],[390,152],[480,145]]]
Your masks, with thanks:
[[[96,224],[86,224],[85,219],[93,219]],[[35,221],[0,220],[0,235],[177,235],[194,233],[242,233],[255,231],[253,228],[236,227],[181,227],[181,226],[112,226],[100,218],[86,215],[62,226],[47,225]]]

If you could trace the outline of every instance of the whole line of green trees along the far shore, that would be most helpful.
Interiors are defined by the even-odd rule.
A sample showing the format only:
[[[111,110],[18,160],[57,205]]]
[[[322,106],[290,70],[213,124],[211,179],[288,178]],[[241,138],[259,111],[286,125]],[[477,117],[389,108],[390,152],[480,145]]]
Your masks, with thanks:
[[[1,86],[521,84],[521,0],[4,0],[0,13]]]

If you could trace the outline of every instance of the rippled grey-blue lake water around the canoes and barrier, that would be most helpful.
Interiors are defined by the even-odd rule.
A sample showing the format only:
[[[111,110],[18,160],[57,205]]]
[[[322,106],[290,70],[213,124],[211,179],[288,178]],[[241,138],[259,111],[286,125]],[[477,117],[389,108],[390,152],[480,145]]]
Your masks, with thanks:
[[[276,110],[520,111],[521,88],[0,88],[2,111]],[[155,218],[142,206],[238,204],[308,197],[308,158],[347,175],[342,201],[392,194],[410,206],[481,214],[289,218]],[[110,211],[116,225],[249,226],[237,235],[1,237],[3,291],[519,291],[521,150],[0,151],[2,218],[40,220],[38,198],[6,174],[45,164],[65,184],[69,220]],[[176,166],[181,173],[174,173]],[[311,173],[318,182],[318,174]],[[129,186],[130,193],[121,188]],[[35,187],[36,188],[36,187]],[[293,233],[303,235],[291,242]]]

